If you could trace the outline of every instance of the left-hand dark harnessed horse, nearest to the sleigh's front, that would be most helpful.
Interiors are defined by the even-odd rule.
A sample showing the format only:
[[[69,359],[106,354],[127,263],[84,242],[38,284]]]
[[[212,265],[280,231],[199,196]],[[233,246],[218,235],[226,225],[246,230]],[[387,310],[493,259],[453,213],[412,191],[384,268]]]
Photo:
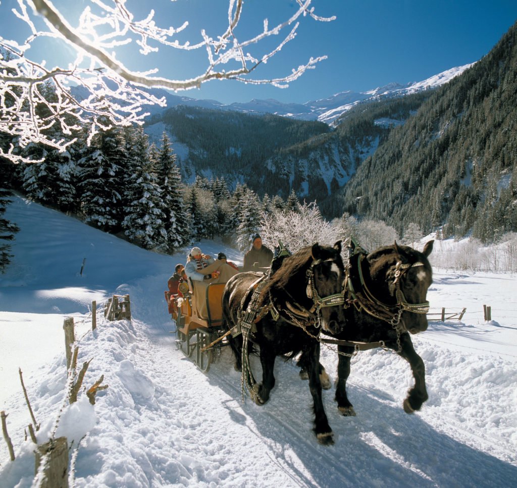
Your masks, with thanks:
[[[316,243],[285,257],[271,276],[254,272],[233,276],[222,298],[223,320],[233,330],[232,335],[237,333],[229,339],[235,353],[235,368],[242,371],[243,381],[257,405],[269,400],[275,386],[275,358],[292,358],[302,353],[314,401],[314,431],[322,444],[331,444],[333,439],[322,401],[317,336],[320,328],[329,334],[341,330],[343,280],[341,241],[333,247]],[[260,348],[260,385],[247,369],[248,336]]]

